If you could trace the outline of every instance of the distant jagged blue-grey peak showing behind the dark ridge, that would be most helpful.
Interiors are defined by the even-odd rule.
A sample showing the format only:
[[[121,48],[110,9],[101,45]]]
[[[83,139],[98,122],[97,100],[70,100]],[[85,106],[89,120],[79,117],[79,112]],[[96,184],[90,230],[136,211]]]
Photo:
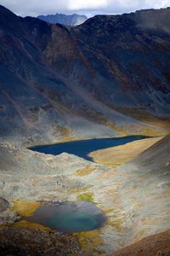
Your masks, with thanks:
[[[63,24],[68,26],[77,26],[88,20],[86,15],[39,15],[37,16],[38,19],[47,21],[52,24]]]

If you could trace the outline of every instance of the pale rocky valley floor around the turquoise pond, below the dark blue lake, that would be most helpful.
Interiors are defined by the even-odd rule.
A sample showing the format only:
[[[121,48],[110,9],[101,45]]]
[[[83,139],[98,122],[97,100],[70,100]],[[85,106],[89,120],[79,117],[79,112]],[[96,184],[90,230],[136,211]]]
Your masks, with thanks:
[[[20,219],[31,215],[39,207],[37,201],[87,200],[93,201],[105,212],[105,226],[99,230],[73,234],[73,247],[70,246],[72,236],[65,236],[59,241],[59,232],[52,231],[61,244],[68,241],[67,253],[76,255],[80,252],[81,255],[110,254],[139,242],[146,236],[169,230],[168,152],[169,136],[148,138],[114,150],[108,148],[91,153],[96,163],[71,154],[39,154],[10,143],[1,143],[0,196],[9,201],[10,206],[6,205],[7,211],[0,212],[0,236],[10,232],[13,234],[16,230],[22,233],[29,229],[30,232],[44,231],[44,236],[48,236],[49,230]],[[6,201],[0,201],[0,210]],[[40,237],[42,236],[41,233]],[[28,243],[29,239],[31,238],[25,242]],[[157,236],[153,240],[156,241],[155,244],[160,241]],[[77,246],[77,241],[81,249]],[[162,244],[164,241],[169,242],[163,239]],[[8,241],[1,240],[0,248],[8,243],[10,244],[10,238]],[[144,244],[148,244],[146,240],[141,241],[141,250]],[[135,247],[138,249],[138,244],[132,246],[137,254],[130,254],[131,247],[127,247],[127,251],[113,255],[146,255]],[[152,243],[148,247],[151,248]],[[157,248],[161,250],[160,247]],[[26,250],[26,247],[22,247],[22,250]],[[169,252],[169,247],[166,250]]]

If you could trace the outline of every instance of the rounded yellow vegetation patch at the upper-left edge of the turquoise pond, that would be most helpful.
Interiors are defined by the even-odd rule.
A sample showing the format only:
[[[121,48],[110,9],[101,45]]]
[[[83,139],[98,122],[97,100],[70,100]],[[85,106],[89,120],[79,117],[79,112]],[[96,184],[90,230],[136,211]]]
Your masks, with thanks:
[[[29,217],[36,212],[37,208],[41,206],[38,201],[26,201],[25,199],[19,199],[14,201],[12,211],[17,212],[20,216]]]

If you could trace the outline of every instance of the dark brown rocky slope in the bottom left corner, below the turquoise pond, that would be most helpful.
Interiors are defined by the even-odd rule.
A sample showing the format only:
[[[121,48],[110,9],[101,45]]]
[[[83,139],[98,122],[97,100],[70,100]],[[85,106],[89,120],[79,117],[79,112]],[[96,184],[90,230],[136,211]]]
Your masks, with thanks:
[[[38,237],[38,238],[37,238]],[[30,228],[0,230],[0,255],[75,255],[80,251],[76,237]]]

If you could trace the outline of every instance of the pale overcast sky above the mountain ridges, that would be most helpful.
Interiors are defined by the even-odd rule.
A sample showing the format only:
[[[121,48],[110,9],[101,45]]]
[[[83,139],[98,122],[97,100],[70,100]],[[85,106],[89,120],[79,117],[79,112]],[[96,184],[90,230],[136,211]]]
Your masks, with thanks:
[[[21,16],[55,13],[92,16],[170,7],[170,0],[0,0],[0,4]]]

